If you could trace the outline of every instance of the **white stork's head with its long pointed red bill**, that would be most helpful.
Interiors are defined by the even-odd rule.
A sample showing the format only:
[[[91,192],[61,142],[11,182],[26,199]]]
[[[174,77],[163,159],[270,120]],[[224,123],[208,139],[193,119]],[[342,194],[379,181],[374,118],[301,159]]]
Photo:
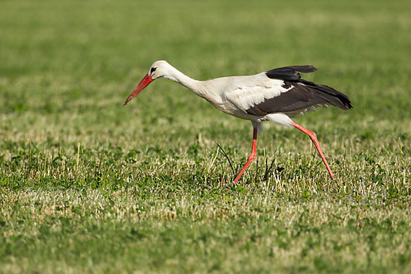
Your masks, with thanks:
[[[171,75],[173,75],[173,66],[171,66],[169,63],[167,63],[164,60],[160,61],[155,61],[153,64],[150,66],[149,71],[147,72],[147,75],[145,75],[144,78],[140,81],[140,83],[137,85],[137,87],[134,89],[131,95],[125,100],[124,105],[126,105],[129,101],[132,101],[134,97],[138,95],[138,93],[141,92],[146,86],[148,86],[151,82],[153,82],[157,78],[167,78],[171,79]]]

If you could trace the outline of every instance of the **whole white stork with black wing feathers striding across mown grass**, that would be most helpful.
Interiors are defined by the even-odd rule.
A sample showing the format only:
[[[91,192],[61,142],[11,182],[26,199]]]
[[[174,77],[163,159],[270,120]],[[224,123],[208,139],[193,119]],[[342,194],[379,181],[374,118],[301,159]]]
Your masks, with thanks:
[[[335,180],[336,177],[325,159],[316,134],[291,120],[299,114],[312,112],[318,108],[328,108],[329,105],[343,110],[352,108],[349,97],[342,92],[301,78],[300,73],[312,73],[316,70],[311,65],[284,66],[256,75],[219,77],[199,81],[178,71],[168,62],[159,60],[151,64],[147,75],[127,97],[124,105],[155,79],[173,80],[206,99],[216,109],[251,121],[253,125],[251,153],[233,184],[238,182],[238,179],[256,159],[257,135],[262,131],[264,121],[295,127],[307,134],[319,152],[329,175]]]

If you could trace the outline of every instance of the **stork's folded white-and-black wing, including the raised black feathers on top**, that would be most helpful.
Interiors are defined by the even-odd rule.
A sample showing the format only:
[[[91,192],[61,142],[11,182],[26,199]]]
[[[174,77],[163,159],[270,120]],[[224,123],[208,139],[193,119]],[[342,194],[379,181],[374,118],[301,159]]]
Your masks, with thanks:
[[[301,79],[299,73],[314,71],[313,66],[286,66],[232,82],[226,99],[247,114],[264,116],[275,112],[295,112],[312,105],[351,108],[343,93],[329,86]],[[283,77],[285,79],[281,79]]]

